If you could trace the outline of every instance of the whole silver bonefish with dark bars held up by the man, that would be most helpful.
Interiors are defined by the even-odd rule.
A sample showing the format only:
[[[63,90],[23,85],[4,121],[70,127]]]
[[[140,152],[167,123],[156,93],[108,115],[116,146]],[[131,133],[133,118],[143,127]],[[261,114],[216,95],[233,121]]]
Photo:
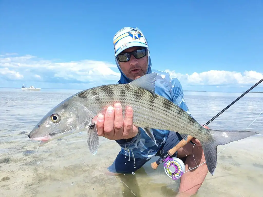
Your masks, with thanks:
[[[65,99],[49,111],[33,128],[28,137],[45,144],[53,139],[87,130],[89,151],[95,155],[99,136],[93,118],[108,106],[119,102],[125,118],[125,108],[133,108],[133,123],[143,128],[156,143],[152,128],[188,135],[202,144],[206,165],[214,174],[217,146],[255,134],[249,131],[218,131],[206,129],[178,105],[155,94],[156,73],[146,74],[129,84],[113,84],[83,90]]]

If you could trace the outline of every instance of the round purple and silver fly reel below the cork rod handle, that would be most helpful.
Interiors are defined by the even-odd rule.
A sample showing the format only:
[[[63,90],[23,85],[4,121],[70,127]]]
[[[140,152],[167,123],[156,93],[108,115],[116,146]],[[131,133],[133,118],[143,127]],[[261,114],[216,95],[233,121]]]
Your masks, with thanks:
[[[164,160],[164,171],[173,180],[179,179],[185,172],[185,165],[181,159],[167,157]]]

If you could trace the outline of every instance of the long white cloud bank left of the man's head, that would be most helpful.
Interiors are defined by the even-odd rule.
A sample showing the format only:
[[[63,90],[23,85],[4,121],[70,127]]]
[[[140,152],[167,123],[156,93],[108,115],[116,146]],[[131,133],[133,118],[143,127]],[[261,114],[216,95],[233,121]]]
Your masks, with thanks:
[[[14,56],[15,55],[15,56]],[[0,57],[0,78],[45,83],[116,83],[120,73],[115,64],[95,60],[54,61],[15,53]],[[115,71],[113,70],[115,69]]]

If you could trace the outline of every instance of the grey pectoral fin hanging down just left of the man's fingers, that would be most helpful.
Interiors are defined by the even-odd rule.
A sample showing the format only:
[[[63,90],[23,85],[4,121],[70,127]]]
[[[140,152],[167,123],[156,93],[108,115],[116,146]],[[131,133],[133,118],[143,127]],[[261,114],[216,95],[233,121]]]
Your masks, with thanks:
[[[87,141],[89,151],[95,155],[99,148],[99,135],[95,123],[88,127]]]

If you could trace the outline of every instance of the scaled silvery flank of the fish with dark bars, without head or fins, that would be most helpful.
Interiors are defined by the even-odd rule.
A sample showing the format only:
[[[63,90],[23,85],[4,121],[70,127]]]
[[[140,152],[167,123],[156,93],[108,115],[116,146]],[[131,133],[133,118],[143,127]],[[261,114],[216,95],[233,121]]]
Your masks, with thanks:
[[[122,92],[125,92],[125,97]],[[94,105],[93,111],[113,106],[116,102],[122,103],[123,112],[125,112],[126,107],[131,106],[134,111],[133,122],[138,127],[190,133],[199,138],[201,136],[197,132],[193,133],[193,131],[197,130],[200,133],[204,130],[198,122],[179,106],[140,87],[128,84],[105,85],[76,94],[76,96],[79,95],[81,95],[80,97],[85,95],[85,98],[89,101],[84,102],[85,105]],[[100,96],[96,97],[96,95]],[[165,103],[165,105],[162,105],[162,103]]]

